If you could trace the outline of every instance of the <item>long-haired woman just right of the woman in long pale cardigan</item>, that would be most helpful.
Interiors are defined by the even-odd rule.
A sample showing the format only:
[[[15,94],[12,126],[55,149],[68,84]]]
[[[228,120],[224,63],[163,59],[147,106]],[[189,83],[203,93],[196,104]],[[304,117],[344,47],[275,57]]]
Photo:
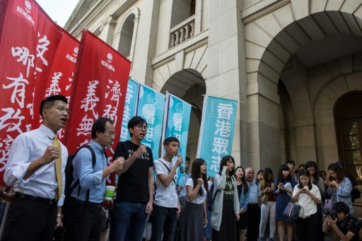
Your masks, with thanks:
[[[245,241],[245,228],[247,228],[247,203],[250,197],[250,185],[245,178],[245,170],[239,166],[235,169],[235,182],[238,187],[240,218],[236,221],[236,240]]]

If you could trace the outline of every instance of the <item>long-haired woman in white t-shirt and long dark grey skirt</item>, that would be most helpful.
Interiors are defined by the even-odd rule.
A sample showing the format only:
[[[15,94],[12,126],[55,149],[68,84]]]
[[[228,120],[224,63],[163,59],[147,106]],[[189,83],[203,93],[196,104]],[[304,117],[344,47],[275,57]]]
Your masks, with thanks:
[[[204,159],[197,158],[192,163],[186,192],[187,201],[180,218],[180,241],[204,240],[204,223],[207,223],[206,196],[209,194]]]

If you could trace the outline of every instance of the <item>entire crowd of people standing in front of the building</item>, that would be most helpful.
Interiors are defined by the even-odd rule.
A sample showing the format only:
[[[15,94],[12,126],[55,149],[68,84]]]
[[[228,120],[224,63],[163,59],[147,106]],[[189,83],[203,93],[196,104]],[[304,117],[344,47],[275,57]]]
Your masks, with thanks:
[[[63,240],[106,240],[101,237],[104,206],[110,241],[273,241],[276,230],[280,241],[285,232],[288,241],[324,240],[326,232],[334,240],[362,237],[351,195],[358,192],[356,181],[346,175],[343,163],[329,165],[328,179],[314,161],[295,172],[294,160],[286,160],[278,172],[267,167],[255,176],[254,168],[235,167],[233,156],[226,155],[208,180],[206,161],[197,158],[190,169],[186,158],[177,184],[177,168],[184,162],[177,155],[180,141],[165,139],[165,154],[153,160],[151,149],[141,144],[146,120],[138,116],[129,120],[131,139],[117,144],[109,166],[105,148],[115,139],[114,123],[105,117],[94,122],[88,148],[80,148],[71,163],[73,189],[64,210],[68,152],[57,131],[69,116],[66,98],[43,100],[40,114],[40,128],[19,135],[9,151],[4,181],[14,192],[0,189],[1,198],[10,201],[1,240],[53,240],[54,228],[65,230]],[[111,173],[119,176],[117,194],[105,199]],[[291,203],[301,206],[296,219],[283,214]],[[146,232],[146,223],[151,223],[151,232]]]

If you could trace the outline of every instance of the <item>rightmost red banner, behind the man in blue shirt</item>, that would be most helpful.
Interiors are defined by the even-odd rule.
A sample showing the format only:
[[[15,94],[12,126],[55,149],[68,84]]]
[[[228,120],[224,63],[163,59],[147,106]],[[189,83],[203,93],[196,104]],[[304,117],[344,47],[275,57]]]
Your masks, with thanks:
[[[128,59],[97,36],[83,31],[64,138],[69,153],[88,143],[95,119],[107,117],[115,122],[117,134],[112,148],[107,150],[110,164],[121,132],[130,69]]]

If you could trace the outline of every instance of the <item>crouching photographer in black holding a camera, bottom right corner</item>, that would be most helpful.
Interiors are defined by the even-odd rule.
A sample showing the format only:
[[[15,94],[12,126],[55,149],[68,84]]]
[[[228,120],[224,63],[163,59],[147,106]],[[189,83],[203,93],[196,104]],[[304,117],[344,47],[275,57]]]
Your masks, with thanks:
[[[356,217],[349,215],[349,206],[342,201],[334,204],[333,209],[337,212],[337,218],[334,220],[331,216],[326,216],[323,223],[323,232],[327,233],[330,228],[333,229],[334,240],[352,240],[358,241],[358,234],[361,230]]]

